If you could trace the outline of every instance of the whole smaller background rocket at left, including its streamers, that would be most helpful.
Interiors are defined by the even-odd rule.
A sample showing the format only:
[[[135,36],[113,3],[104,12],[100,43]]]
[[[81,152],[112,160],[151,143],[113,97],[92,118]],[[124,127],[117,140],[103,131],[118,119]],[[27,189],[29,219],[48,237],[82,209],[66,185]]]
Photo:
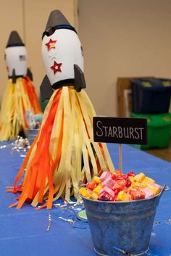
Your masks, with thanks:
[[[8,71],[7,89],[1,104],[0,140],[15,139],[20,133],[27,136],[25,111],[41,113],[32,74],[28,69],[28,53],[17,31],[12,31],[5,49]]]

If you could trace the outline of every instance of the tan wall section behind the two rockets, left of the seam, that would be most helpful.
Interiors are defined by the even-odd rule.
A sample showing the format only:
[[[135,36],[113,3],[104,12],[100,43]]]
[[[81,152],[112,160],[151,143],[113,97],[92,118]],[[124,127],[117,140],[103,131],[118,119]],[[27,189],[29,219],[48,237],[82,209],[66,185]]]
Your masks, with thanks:
[[[39,94],[39,86],[45,75],[41,58],[41,35],[49,13],[53,9],[60,9],[70,23],[77,27],[77,0],[0,0],[0,4],[0,102],[7,85],[4,49],[12,30],[20,33],[28,49],[29,66]]]

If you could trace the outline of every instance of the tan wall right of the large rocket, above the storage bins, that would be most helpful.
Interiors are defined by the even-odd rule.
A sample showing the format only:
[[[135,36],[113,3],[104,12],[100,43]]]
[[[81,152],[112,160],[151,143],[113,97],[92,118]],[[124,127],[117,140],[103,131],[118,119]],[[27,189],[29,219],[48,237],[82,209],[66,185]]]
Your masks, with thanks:
[[[170,0],[79,0],[88,95],[117,115],[117,77],[171,78]]]

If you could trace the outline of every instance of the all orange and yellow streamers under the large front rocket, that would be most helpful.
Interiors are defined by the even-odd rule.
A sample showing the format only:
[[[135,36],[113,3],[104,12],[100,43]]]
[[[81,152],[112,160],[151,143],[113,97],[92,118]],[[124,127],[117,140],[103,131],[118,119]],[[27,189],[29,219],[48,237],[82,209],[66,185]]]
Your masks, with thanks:
[[[17,208],[24,202],[36,207],[46,200],[43,206],[51,209],[53,201],[63,197],[70,202],[72,195],[80,200],[80,179],[91,181],[101,171],[114,172],[106,144],[93,141],[94,115],[85,91],[78,93],[72,86],[54,91],[40,131],[14,181],[14,193],[22,188]],[[17,186],[25,168],[25,177]]]

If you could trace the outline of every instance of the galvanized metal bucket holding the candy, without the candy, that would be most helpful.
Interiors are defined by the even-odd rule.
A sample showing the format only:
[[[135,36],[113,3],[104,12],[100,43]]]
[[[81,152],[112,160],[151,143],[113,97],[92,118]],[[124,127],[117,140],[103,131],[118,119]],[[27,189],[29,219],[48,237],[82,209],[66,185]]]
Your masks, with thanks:
[[[99,255],[145,255],[162,192],[130,202],[83,198],[94,249]]]

